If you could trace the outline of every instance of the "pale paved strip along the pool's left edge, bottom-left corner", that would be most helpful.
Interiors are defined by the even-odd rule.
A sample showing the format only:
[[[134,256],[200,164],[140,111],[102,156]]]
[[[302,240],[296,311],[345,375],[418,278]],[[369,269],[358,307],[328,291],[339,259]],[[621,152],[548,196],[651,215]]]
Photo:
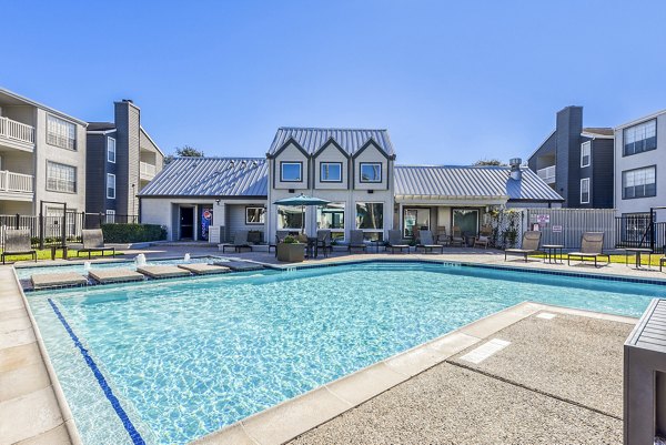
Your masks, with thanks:
[[[38,342],[13,272],[0,269],[0,445],[71,443],[73,421]]]

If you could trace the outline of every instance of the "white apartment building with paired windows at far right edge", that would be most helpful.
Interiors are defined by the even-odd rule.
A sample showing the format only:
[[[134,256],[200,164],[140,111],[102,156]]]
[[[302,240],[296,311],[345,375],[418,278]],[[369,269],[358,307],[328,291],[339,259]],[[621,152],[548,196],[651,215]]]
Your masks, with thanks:
[[[615,129],[617,215],[644,215],[666,205],[666,110]],[[662,214],[666,212],[662,211]]]

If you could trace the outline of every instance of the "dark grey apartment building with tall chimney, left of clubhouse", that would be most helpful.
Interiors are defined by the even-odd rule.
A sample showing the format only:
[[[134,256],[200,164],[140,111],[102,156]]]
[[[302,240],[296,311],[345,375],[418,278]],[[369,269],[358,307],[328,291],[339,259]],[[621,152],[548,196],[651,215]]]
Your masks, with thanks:
[[[88,125],[85,209],[103,213],[109,222],[133,222],[137,195],[162,170],[164,153],[141,127],[139,107],[131,100],[113,107],[113,122]]]

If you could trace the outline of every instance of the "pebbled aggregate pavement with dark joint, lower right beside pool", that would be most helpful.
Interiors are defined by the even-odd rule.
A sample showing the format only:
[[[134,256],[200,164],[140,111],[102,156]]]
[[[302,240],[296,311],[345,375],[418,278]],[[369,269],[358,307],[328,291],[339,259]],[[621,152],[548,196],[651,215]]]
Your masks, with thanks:
[[[633,321],[537,315],[487,337],[509,344],[481,363],[471,346],[290,444],[622,443]]]

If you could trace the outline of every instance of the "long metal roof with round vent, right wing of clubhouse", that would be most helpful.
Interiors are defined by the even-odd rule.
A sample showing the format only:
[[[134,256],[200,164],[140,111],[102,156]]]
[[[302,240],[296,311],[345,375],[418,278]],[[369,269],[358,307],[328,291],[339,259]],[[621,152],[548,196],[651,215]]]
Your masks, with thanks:
[[[521,170],[518,181],[508,166],[395,165],[395,195],[564,201],[532,170]]]

